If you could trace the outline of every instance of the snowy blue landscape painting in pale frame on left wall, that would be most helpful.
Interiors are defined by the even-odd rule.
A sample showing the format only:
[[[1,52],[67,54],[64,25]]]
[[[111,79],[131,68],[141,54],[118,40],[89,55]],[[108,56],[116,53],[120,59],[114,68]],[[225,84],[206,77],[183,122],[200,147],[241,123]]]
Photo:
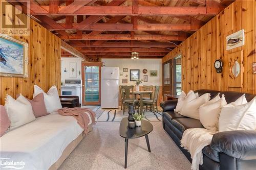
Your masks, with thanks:
[[[28,77],[28,44],[0,34],[0,76]]]

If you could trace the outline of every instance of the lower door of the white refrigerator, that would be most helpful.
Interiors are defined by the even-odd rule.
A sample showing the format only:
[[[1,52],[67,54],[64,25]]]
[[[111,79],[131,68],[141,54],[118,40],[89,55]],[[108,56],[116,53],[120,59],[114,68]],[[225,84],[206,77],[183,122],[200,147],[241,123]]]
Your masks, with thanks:
[[[101,80],[101,107],[118,108],[119,107],[119,80]]]

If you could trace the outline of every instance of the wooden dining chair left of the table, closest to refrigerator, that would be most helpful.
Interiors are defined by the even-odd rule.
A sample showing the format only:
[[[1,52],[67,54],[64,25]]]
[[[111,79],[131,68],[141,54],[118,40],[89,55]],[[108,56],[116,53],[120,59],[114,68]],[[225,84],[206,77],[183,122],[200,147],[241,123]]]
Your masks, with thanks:
[[[121,86],[121,96],[122,96],[122,105],[123,107],[123,114],[125,112],[125,108],[129,105],[133,104],[134,106],[139,106],[139,101],[134,98],[134,86]],[[132,92],[132,97],[130,95]]]

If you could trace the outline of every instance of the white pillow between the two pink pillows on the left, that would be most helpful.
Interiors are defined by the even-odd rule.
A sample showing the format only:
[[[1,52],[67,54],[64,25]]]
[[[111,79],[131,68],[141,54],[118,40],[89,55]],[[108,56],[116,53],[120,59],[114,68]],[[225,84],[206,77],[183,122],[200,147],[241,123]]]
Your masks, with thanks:
[[[11,122],[10,129],[25,125],[35,119],[30,102],[21,94],[17,100],[7,95],[5,108]]]

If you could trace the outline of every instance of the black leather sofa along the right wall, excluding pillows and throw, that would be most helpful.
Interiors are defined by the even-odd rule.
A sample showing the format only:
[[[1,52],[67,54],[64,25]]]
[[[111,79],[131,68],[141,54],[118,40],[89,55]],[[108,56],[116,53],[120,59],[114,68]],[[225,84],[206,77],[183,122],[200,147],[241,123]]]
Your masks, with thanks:
[[[215,91],[215,90],[196,90],[199,96],[204,93],[210,93],[211,99],[220,92],[224,94],[227,103],[236,101],[242,94],[232,91]],[[249,102],[256,96],[255,94],[245,94]],[[174,109],[178,100],[164,101],[160,104],[163,109],[163,129],[178,145],[187,159],[191,162],[190,154],[187,150],[180,147],[182,134],[189,128],[204,128],[200,120],[182,116]],[[243,131],[226,131],[216,133],[211,144],[203,149],[203,164],[200,169],[256,169],[256,130]]]

